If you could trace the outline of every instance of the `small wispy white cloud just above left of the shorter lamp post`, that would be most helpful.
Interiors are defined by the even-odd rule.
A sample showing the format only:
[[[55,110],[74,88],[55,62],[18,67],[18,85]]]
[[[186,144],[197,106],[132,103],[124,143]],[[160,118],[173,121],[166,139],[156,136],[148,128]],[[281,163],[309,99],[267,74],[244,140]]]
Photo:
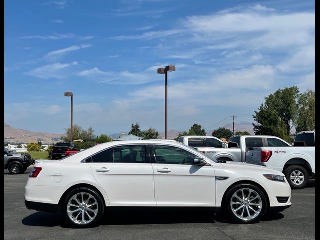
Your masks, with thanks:
[[[35,76],[41,79],[50,79],[50,78],[63,79],[69,75],[66,69],[71,66],[75,66],[77,64],[78,63],[76,61],[71,63],[65,63],[65,64],[53,63],[53,64],[48,64],[45,66],[35,68],[29,72],[26,72],[25,74],[30,76]]]

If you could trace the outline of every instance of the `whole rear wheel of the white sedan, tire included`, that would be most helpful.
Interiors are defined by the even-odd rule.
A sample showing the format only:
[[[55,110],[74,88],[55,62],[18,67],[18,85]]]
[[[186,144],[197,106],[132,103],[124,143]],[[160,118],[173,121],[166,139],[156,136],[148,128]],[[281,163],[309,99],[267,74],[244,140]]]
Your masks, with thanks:
[[[97,225],[104,212],[100,195],[90,188],[77,188],[69,192],[63,204],[64,214],[70,224],[76,227]]]

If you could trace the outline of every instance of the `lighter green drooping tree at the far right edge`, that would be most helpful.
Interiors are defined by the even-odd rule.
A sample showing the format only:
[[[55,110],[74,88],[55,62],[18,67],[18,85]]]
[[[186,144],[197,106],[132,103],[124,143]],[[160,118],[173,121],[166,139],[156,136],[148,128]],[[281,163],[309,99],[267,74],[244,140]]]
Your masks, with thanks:
[[[299,95],[296,132],[315,129],[315,91],[307,90]]]

